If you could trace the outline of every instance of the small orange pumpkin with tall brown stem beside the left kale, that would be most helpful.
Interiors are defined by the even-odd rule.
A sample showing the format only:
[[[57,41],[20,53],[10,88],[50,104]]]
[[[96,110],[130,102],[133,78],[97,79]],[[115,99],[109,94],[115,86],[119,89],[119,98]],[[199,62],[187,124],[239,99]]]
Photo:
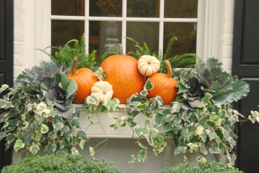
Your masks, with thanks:
[[[98,82],[97,76],[89,68],[80,68],[77,70],[77,56],[72,64],[72,73],[67,75],[70,79],[77,82],[77,91],[73,99],[74,103],[84,103],[85,98],[91,94],[91,88],[95,82]]]

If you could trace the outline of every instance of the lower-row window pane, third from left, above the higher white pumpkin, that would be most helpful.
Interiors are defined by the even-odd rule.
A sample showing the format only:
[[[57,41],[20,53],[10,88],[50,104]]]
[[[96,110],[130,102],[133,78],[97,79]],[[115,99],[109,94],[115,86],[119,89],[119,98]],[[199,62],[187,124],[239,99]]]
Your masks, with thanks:
[[[142,47],[146,43],[151,53],[158,52],[159,22],[127,22],[126,36],[138,41]],[[126,41],[126,52],[135,51],[135,43]]]

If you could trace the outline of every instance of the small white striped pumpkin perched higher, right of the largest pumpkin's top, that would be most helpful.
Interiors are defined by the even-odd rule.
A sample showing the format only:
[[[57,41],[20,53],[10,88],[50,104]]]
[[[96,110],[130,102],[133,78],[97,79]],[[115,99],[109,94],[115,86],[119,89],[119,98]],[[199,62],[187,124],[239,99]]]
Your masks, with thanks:
[[[144,76],[151,76],[158,72],[159,60],[151,55],[143,55],[138,59],[138,70]]]

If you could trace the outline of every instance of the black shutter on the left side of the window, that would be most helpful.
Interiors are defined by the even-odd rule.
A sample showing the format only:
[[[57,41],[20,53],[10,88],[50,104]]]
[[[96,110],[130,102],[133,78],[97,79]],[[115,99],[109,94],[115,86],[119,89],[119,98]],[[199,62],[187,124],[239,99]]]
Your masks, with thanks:
[[[0,0],[0,86],[13,86],[14,2]],[[3,94],[0,95],[0,98]],[[1,114],[1,112],[0,112]],[[0,129],[3,124],[0,124]],[[0,170],[12,164],[12,149],[5,152],[5,141],[0,141]]]

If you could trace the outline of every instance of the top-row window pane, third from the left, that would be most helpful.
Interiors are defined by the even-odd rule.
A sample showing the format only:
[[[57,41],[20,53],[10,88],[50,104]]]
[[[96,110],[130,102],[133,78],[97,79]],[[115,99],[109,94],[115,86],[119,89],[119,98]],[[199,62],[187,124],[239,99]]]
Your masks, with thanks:
[[[159,18],[160,0],[128,0],[127,17]]]

